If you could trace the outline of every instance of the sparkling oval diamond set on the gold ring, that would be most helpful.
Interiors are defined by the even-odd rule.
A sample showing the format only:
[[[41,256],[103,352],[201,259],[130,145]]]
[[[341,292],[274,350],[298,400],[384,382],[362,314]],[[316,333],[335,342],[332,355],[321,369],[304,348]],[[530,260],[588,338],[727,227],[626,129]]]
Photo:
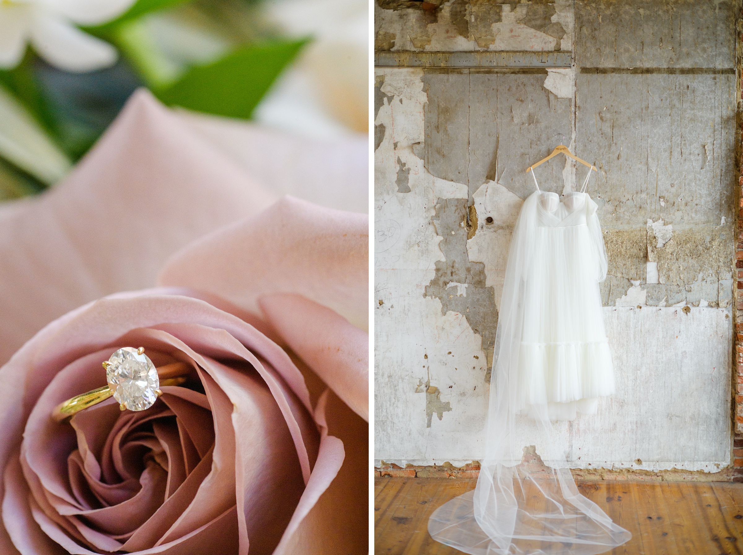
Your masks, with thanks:
[[[111,354],[106,380],[114,399],[129,410],[149,409],[158,399],[158,370],[146,354],[139,354],[135,348],[124,347]]]

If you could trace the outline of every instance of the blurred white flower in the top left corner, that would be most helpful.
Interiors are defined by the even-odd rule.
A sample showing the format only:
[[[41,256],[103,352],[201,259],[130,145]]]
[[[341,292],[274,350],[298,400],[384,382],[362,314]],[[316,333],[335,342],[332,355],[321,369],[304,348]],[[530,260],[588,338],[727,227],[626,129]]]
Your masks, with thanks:
[[[0,0],[0,68],[14,68],[30,42],[47,62],[64,71],[91,71],[116,62],[114,47],[78,25],[102,25],[134,0]]]

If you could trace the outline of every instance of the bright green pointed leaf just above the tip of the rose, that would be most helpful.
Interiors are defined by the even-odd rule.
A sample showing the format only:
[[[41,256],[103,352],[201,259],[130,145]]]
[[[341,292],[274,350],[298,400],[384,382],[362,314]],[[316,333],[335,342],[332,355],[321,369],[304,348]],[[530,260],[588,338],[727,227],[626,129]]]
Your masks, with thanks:
[[[307,42],[276,41],[240,48],[217,62],[192,68],[155,94],[170,106],[250,119],[276,77]]]

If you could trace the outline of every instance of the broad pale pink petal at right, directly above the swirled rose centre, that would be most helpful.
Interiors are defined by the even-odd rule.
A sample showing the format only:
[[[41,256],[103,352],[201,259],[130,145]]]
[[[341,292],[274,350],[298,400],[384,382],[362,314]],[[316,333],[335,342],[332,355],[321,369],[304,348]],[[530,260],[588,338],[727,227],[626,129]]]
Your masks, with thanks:
[[[285,197],[189,244],[159,282],[224,296],[253,314],[260,296],[299,293],[366,329],[369,218]]]

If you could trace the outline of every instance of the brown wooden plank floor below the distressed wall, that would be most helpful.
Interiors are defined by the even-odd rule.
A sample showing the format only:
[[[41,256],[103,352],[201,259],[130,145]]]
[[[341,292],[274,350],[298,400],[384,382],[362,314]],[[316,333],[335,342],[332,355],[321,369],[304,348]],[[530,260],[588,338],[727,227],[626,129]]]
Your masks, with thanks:
[[[455,555],[428,534],[436,507],[474,479],[376,478],[374,553]],[[743,484],[587,481],[578,487],[632,539],[611,555],[743,555]]]

